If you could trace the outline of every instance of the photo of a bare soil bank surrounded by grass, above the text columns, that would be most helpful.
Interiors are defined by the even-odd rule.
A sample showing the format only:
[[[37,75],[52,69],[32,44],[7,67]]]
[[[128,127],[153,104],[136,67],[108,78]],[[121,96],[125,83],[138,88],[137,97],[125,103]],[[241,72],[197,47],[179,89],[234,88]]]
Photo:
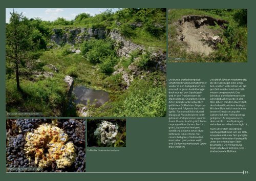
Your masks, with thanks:
[[[168,9],[172,62],[247,62],[247,9]]]

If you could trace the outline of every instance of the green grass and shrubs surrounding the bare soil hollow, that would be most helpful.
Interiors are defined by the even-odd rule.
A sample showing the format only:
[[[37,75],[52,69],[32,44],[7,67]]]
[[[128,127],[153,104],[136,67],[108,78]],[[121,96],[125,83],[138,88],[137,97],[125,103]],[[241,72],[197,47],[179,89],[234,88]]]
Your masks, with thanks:
[[[247,19],[247,11],[246,17],[241,11],[245,9],[169,9],[168,57],[174,62],[175,58],[181,58],[185,62],[247,62],[247,22],[241,23]],[[188,45],[176,39],[179,33],[175,22],[183,15],[208,15],[229,22],[226,29],[221,30],[219,35],[223,42],[217,44],[214,52],[206,56],[186,51]]]

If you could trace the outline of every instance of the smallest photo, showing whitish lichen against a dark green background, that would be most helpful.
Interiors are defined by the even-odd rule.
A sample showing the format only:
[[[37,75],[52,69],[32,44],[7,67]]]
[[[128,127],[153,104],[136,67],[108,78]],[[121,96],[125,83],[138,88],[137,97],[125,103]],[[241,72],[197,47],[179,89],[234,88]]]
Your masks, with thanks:
[[[88,119],[88,147],[126,147],[125,119]]]

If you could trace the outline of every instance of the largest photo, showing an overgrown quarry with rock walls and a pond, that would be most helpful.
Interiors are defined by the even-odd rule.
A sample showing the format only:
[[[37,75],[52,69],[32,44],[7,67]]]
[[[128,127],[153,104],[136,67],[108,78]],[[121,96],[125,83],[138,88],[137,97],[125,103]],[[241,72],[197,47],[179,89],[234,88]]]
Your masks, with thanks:
[[[6,9],[6,114],[166,117],[166,9],[81,10]]]

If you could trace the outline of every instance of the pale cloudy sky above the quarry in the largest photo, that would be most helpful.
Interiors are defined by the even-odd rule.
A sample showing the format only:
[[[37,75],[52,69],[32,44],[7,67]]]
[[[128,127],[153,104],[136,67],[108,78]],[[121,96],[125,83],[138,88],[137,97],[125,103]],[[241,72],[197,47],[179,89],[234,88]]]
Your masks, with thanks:
[[[14,8],[14,11],[23,13],[28,18],[39,17],[42,20],[53,21],[58,17],[63,17],[67,20],[72,20],[76,15],[80,13],[89,13],[91,16],[104,12],[106,8]],[[113,12],[117,11],[117,8],[113,8]],[[10,11],[13,8],[6,8],[5,21],[9,22]]]

